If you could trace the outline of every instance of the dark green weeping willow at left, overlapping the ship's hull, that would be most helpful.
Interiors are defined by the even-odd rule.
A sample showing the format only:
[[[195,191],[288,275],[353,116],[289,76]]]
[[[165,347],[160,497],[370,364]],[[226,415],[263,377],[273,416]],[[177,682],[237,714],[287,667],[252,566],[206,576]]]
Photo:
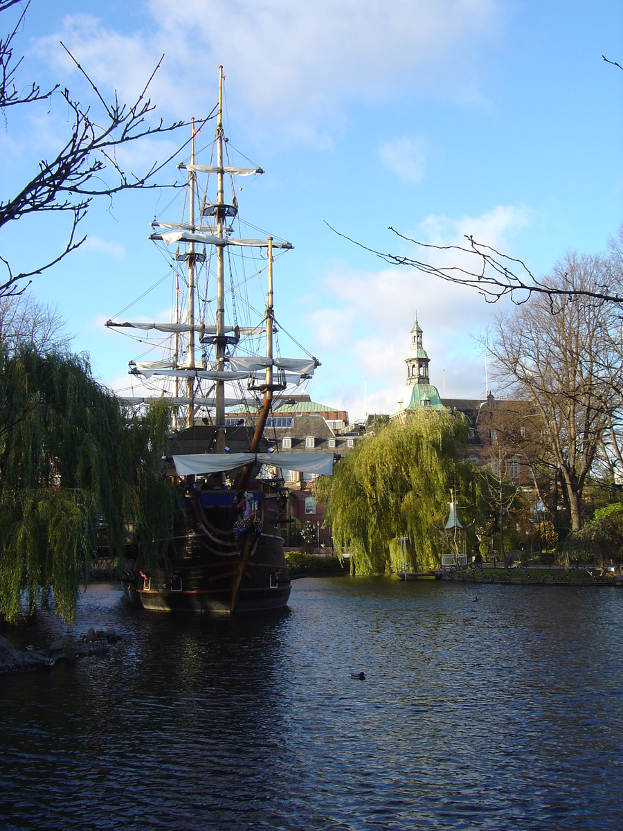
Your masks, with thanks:
[[[130,418],[81,356],[2,347],[0,381],[0,615],[41,594],[71,621],[98,524],[117,558],[129,522],[153,557],[170,538],[168,413]]]

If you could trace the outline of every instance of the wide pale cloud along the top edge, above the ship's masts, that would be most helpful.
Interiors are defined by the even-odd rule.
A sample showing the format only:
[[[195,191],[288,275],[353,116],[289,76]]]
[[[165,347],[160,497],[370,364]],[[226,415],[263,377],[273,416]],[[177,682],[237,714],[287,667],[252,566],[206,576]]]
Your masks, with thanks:
[[[37,50],[75,71],[62,40],[98,85],[117,86],[124,100],[164,52],[150,94],[178,116],[212,109],[222,63],[237,112],[253,129],[271,125],[304,141],[326,140],[327,121],[339,121],[350,99],[385,101],[415,88],[478,98],[478,52],[506,13],[500,0],[186,0],[174,12],[169,0],[150,0],[148,9],[145,30],[132,33],[67,16]]]

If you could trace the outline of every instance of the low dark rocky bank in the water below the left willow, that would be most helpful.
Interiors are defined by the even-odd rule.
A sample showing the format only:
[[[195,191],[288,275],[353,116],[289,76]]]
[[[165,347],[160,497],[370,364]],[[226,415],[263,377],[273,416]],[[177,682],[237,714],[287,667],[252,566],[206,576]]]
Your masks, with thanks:
[[[47,649],[27,647],[26,650],[21,650],[0,636],[0,673],[50,670],[60,661],[76,661],[89,655],[106,655],[112,644],[122,640],[117,632],[96,632],[91,627],[86,635],[59,638]]]

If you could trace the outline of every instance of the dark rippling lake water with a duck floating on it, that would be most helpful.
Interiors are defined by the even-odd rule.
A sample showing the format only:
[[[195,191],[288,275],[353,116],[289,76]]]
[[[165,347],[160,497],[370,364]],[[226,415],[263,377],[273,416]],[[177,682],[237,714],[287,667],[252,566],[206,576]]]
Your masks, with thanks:
[[[94,585],[71,631],[129,643],[0,676],[0,826],[623,829],[622,622],[617,589],[307,579],[210,618]]]

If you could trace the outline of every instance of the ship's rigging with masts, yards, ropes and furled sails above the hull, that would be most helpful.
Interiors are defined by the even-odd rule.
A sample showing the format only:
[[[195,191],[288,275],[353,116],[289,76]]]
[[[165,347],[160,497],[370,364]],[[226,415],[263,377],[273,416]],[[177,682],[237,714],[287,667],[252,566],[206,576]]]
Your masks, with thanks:
[[[238,214],[236,183],[239,177],[256,177],[263,170],[253,163],[234,164],[230,158],[233,148],[223,130],[223,79],[221,67],[209,164],[199,164],[195,149],[199,131],[193,127],[190,158],[178,165],[187,176],[184,217],[177,223],[160,218],[152,223],[150,238],[167,249],[169,261],[173,259],[172,318],[106,323],[133,335],[142,332],[139,340],[150,344],[130,361],[130,373],[140,380],[142,394],[122,396],[124,401],[140,406],[154,395],[164,397],[173,408],[177,429],[193,426],[197,418],[224,428],[228,407],[256,414],[265,411],[265,419],[273,393],[287,395],[319,365],[309,354],[304,358],[278,354],[273,253],[284,253],[292,244],[270,234],[266,238],[244,234],[245,227],[253,226],[243,223]],[[258,253],[267,259],[258,261]],[[260,305],[252,289],[258,288],[256,278],[265,274],[266,306],[259,312],[264,298]],[[221,451],[223,435],[224,430],[219,430]]]

